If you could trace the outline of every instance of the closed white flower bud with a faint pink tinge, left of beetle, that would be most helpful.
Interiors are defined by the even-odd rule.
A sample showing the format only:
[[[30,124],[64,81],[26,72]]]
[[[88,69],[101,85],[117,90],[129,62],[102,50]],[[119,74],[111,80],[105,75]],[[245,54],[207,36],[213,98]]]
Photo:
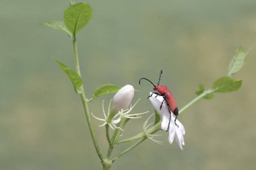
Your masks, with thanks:
[[[113,98],[113,108],[117,108],[119,110],[128,108],[131,104],[131,99],[133,99],[133,95],[133,86],[125,85],[115,94]]]

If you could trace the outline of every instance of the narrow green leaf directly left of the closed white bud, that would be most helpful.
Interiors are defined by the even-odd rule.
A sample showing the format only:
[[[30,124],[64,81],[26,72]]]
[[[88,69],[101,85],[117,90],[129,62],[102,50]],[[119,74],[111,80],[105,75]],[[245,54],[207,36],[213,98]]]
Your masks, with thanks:
[[[117,93],[121,89],[120,86],[112,85],[112,84],[106,84],[98,87],[96,91],[94,91],[94,94],[92,95],[92,99],[95,99],[96,97],[107,95],[110,93]]]

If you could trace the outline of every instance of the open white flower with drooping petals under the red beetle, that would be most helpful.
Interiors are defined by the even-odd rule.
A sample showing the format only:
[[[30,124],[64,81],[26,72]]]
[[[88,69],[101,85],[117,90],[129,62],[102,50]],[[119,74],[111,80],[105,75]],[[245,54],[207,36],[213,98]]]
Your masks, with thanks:
[[[161,95],[156,95],[154,93],[150,93],[150,95],[152,95],[152,97],[149,97],[152,105],[160,114],[160,116],[162,116],[161,129],[165,131],[168,130],[169,132],[168,140],[170,144],[172,144],[172,141],[175,138],[175,140],[179,144],[179,147],[183,150],[183,145],[185,145],[184,137],[183,137],[183,135],[185,135],[185,128],[183,124],[181,124],[179,120],[176,120],[177,125],[175,124],[174,114],[170,114],[168,110],[168,106],[166,105],[166,102],[162,103],[164,98]],[[162,103],[162,109],[160,110],[161,103]],[[170,119],[170,116],[171,116],[171,119]]]

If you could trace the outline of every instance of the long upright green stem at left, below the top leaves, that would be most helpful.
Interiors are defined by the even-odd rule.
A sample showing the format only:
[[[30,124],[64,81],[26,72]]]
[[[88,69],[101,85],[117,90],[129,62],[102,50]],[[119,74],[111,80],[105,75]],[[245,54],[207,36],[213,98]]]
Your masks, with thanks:
[[[78,51],[77,51],[77,42],[76,42],[75,35],[73,35],[73,52],[75,54],[76,71],[77,71],[77,74],[81,77],[81,71],[80,71],[80,65],[79,65],[79,56],[78,56]],[[94,143],[94,147],[96,149],[96,153],[98,154],[98,157],[100,158],[100,160],[103,163],[104,162],[104,157],[102,156],[102,153],[100,151],[100,147],[98,146],[98,142],[97,142],[97,139],[96,139],[94,129],[92,127],[92,120],[90,118],[90,111],[89,111],[89,108],[88,108],[86,94],[84,92],[84,87],[83,86],[81,87],[81,92],[82,93],[80,93],[80,97],[81,97],[83,105],[84,105],[84,113],[86,114],[86,120],[87,120],[87,123],[88,123],[90,134],[92,136],[92,142]]]

